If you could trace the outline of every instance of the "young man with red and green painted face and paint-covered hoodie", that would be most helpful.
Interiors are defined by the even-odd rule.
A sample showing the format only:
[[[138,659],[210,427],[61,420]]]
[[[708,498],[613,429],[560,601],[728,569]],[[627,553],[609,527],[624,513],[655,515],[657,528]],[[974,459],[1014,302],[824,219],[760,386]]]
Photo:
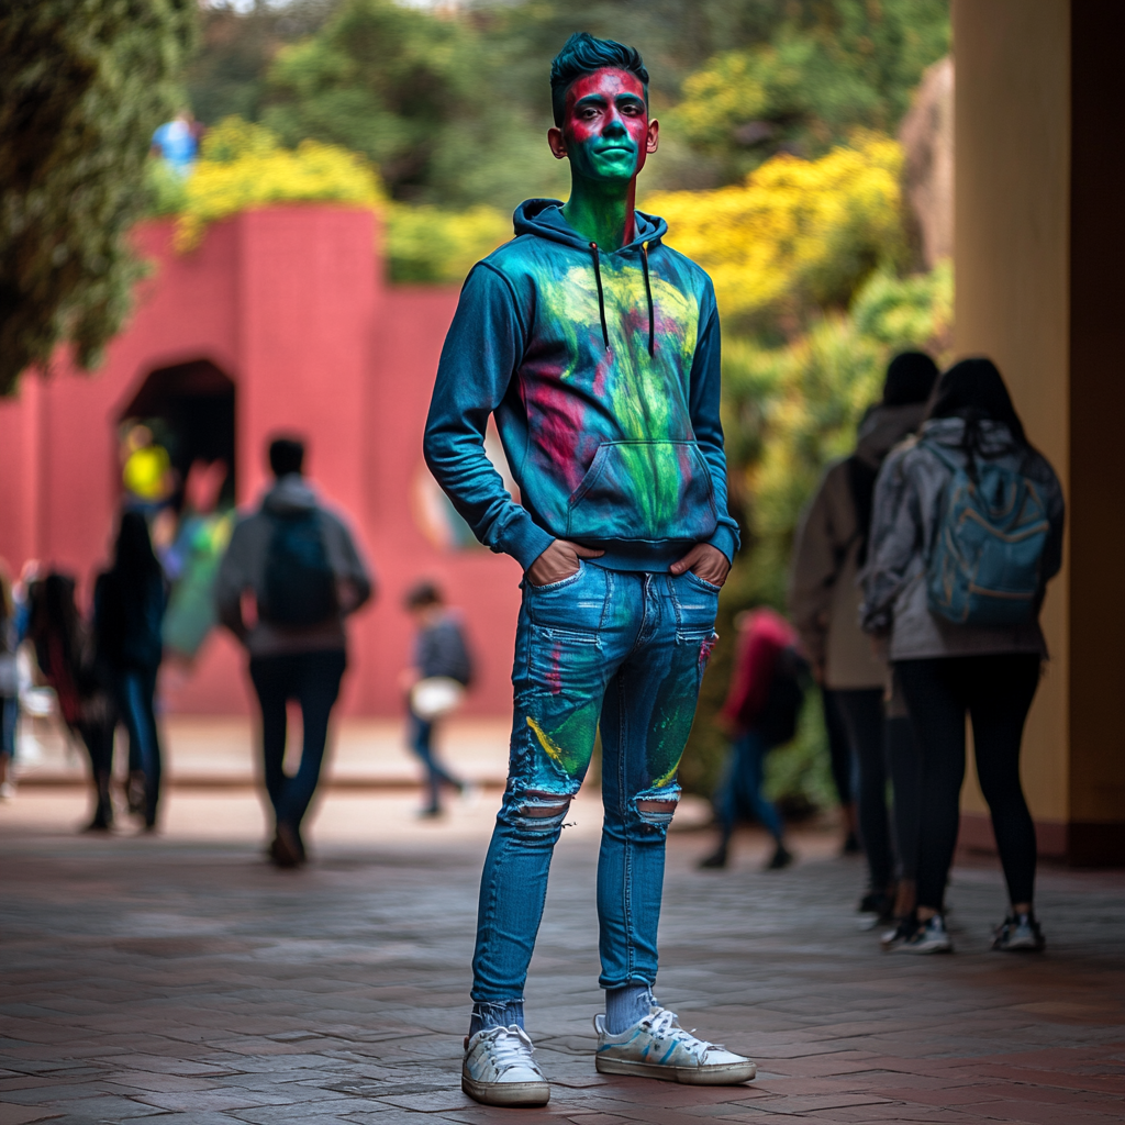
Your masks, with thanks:
[[[754,1077],[652,996],[676,768],[738,544],[719,422],[710,279],[633,209],[656,152],[632,47],[574,35],[551,66],[551,152],[570,198],[531,199],[516,237],[469,274],[426,424],[434,476],[482,542],[524,569],[515,718],[485,861],[462,1087],[542,1105],[523,987],[551,852],[602,734],[597,871],[603,1073],[692,1083]],[[495,414],[520,485],[484,451]]]

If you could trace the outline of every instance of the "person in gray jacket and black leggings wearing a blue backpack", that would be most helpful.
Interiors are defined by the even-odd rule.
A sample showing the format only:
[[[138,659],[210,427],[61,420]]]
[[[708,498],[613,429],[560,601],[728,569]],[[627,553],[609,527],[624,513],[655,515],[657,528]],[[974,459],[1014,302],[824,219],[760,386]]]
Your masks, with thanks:
[[[942,376],[917,442],[883,466],[871,534],[863,623],[889,637],[922,766],[917,911],[884,945],[952,950],[943,909],[968,713],[1010,903],[992,947],[1041,950],[1019,749],[1046,657],[1038,614],[1062,565],[1063,497],[990,360]]]

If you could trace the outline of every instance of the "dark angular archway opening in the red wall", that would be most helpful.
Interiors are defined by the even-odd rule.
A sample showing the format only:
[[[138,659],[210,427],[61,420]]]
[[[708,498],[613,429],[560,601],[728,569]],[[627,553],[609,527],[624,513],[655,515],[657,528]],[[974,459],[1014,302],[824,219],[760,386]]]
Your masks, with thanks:
[[[181,487],[194,461],[225,461],[228,471],[219,501],[226,505],[234,503],[237,471],[234,410],[234,381],[210,360],[200,359],[153,371],[119,421],[152,430],[168,450]]]

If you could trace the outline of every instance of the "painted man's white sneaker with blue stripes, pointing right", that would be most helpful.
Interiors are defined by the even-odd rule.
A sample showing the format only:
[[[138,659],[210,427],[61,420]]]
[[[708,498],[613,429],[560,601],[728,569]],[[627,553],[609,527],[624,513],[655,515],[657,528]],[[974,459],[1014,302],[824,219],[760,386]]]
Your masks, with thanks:
[[[632,1074],[687,1086],[737,1086],[758,1072],[749,1059],[685,1032],[667,1008],[654,1007],[620,1035],[610,1035],[605,1017],[595,1016],[594,1030],[594,1065],[601,1074]]]

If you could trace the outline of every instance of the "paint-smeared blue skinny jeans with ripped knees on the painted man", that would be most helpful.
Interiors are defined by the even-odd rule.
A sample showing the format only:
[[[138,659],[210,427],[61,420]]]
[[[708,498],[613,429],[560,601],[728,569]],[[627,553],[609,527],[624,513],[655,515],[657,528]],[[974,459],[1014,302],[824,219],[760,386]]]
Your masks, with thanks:
[[[598,727],[598,983],[656,982],[665,837],[718,602],[718,588],[693,574],[588,562],[548,586],[523,584],[507,788],[480,880],[472,957],[483,1026],[508,1022],[522,1005],[551,853]]]

